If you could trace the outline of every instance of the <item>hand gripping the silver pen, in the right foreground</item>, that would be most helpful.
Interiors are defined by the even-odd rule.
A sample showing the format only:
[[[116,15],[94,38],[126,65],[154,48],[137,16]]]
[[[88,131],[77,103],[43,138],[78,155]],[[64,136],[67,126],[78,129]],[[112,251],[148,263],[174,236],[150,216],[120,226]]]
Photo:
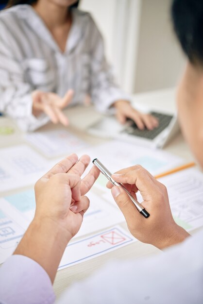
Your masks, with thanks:
[[[127,193],[119,186],[108,182],[118,207],[122,211],[130,232],[144,243],[150,243],[159,249],[183,241],[189,234],[173,220],[166,187],[158,182],[147,170],[139,165],[122,169],[112,178],[124,186],[136,198],[139,190],[142,205],[150,213],[145,219],[135,208]]]

